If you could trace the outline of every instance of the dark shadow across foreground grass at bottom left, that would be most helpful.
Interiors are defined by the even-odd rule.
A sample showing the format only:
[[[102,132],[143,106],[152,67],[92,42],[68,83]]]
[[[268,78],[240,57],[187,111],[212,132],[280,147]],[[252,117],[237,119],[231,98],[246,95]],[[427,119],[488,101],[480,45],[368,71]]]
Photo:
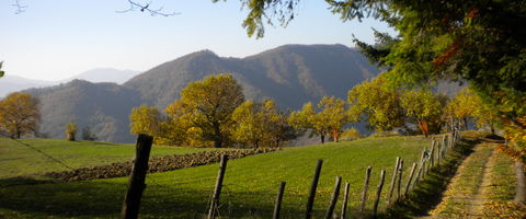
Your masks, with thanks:
[[[5,187],[8,184],[11,186]],[[49,183],[34,178],[0,180],[0,209],[13,211],[13,217],[22,218],[118,218],[127,187],[126,181]],[[148,184],[141,198],[139,217],[203,218],[211,192]],[[262,196],[273,198],[274,194],[225,194],[220,215],[228,218],[270,218],[273,205],[262,204]],[[301,210],[287,206],[282,212],[284,218],[297,218],[302,215]]]

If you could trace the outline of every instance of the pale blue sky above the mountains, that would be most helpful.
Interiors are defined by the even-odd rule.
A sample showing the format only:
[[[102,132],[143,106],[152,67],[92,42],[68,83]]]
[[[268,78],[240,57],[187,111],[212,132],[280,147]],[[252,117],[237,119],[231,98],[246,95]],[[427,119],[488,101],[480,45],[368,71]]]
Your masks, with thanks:
[[[264,38],[241,26],[248,11],[239,0],[150,0],[173,16],[132,11],[127,0],[0,1],[0,60],[7,74],[55,81],[94,68],[146,71],[186,54],[209,49],[242,58],[285,44],[343,44],[353,35],[374,43],[373,30],[395,33],[371,19],[342,22],[320,0],[300,1],[287,27],[266,25]],[[137,1],[146,2],[146,1]]]

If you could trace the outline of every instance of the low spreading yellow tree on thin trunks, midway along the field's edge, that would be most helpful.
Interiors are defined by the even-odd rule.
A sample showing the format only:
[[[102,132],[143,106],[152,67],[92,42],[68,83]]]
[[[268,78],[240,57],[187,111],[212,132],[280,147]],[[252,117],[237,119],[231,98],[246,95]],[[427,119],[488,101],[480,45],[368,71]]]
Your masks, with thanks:
[[[338,141],[342,127],[346,124],[344,102],[334,96],[323,96],[318,103],[319,113],[311,102],[304,105],[301,111],[293,112],[288,123],[296,129],[310,131],[311,135],[320,136],[321,143],[325,142],[325,136],[331,132]]]

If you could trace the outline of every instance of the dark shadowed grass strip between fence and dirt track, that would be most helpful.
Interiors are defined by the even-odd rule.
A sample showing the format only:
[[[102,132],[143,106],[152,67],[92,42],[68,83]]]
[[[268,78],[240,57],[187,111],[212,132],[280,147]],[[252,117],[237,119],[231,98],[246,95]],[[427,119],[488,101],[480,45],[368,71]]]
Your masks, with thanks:
[[[407,198],[399,199],[392,206],[379,215],[379,218],[413,218],[427,216],[427,212],[438,205],[443,198],[447,185],[458,170],[462,161],[473,152],[472,148],[480,143],[480,139],[468,138],[459,141],[441,165],[433,168],[428,174],[420,181]]]

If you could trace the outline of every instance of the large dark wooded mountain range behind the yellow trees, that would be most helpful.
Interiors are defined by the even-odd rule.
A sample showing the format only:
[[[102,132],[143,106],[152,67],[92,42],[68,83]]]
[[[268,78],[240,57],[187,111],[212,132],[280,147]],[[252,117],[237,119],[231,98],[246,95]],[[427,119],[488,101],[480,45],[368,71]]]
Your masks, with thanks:
[[[101,140],[132,142],[128,115],[134,106],[163,110],[188,82],[230,72],[247,99],[271,97],[283,110],[299,108],[324,95],[346,99],[347,91],[378,70],[356,49],[343,45],[286,45],[245,58],[224,58],[202,50],[161,64],[123,85],[82,80],[28,92],[39,96],[41,130],[64,138],[69,122],[90,126]]]

